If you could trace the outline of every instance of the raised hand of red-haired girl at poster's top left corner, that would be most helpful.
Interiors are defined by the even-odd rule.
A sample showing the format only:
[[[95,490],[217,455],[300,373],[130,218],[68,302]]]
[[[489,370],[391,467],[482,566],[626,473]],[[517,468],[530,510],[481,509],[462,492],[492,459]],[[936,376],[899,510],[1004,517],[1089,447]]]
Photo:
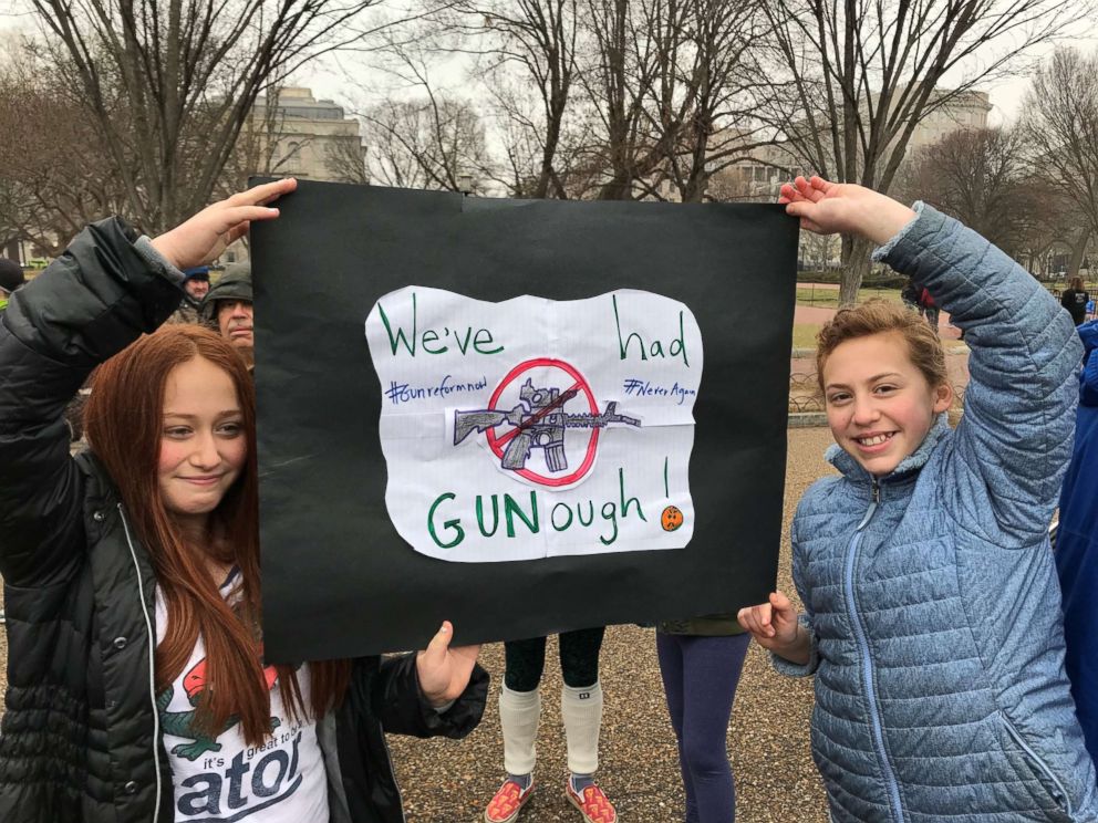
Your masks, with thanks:
[[[189,269],[214,260],[225,247],[244,237],[252,220],[271,220],[278,209],[267,204],[293,191],[292,177],[265,183],[207,206],[186,222],[153,239],[153,247],[177,269]]]

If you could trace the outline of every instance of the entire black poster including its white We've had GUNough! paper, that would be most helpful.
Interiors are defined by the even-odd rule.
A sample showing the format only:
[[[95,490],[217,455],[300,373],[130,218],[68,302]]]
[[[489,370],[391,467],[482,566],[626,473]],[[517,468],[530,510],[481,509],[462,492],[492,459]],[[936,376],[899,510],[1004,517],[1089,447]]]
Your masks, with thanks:
[[[271,659],[735,611],[780,544],[796,221],[301,184],[253,227]]]

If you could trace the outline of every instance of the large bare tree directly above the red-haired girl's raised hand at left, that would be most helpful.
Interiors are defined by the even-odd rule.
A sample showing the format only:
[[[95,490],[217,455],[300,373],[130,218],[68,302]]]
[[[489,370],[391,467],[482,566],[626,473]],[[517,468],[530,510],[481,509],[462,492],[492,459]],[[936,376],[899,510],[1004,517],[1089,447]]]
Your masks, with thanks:
[[[257,95],[367,34],[374,2],[32,0],[146,231],[210,199]]]

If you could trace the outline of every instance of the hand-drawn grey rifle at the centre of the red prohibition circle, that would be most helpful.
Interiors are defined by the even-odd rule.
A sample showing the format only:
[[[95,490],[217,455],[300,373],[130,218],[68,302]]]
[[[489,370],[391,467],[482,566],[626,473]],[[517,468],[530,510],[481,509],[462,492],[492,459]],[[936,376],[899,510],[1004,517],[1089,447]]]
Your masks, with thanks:
[[[519,390],[518,405],[510,412],[455,412],[454,445],[462,442],[474,429],[478,433],[486,431],[505,421],[510,423],[515,428],[500,438],[507,438],[500,466],[512,471],[525,469],[530,451],[540,448],[545,450],[546,466],[556,472],[568,468],[568,458],[564,455],[566,428],[605,428],[611,423],[641,425],[635,417],[618,414],[618,404],[613,400],[607,404],[607,409],[601,414],[567,414],[563,406],[577,394],[573,388],[561,394],[559,388],[535,387],[527,379]]]

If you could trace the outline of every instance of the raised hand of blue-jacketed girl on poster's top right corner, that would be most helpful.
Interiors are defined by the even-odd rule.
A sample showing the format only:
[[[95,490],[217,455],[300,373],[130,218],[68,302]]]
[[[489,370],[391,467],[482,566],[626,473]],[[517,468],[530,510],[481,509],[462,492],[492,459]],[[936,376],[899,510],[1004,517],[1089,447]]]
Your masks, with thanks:
[[[783,184],[778,202],[786,213],[800,218],[802,229],[817,235],[858,235],[878,244],[888,242],[915,217],[887,195],[815,176]]]

